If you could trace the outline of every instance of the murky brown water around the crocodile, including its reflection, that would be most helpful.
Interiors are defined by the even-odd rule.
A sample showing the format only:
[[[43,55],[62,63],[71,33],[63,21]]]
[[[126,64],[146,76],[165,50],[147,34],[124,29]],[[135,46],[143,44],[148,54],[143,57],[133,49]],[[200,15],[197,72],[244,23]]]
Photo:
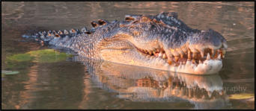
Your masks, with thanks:
[[[254,2],[1,3],[1,70],[19,72],[1,76],[2,109],[255,107]],[[108,62],[79,62],[76,57],[54,63],[7,63],[13,54],[47,48],[24,42],[21,35],[28,31],[91,27],[96,19],[123,20],[126,14],[162,11],[175,11],[186,25],[212,28],[228,40],[219,74],[196,76]],[[231,98],[234,95],[250,96]]]

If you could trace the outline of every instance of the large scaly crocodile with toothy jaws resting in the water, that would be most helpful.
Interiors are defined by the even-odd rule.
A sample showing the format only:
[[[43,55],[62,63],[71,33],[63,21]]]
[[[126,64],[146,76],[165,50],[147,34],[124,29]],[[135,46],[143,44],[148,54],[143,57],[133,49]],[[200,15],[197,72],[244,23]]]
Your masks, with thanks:
[[[175,12],[126,15],[124,21],[92,21],[93,28],[24,34],[42,45],[79,56],[190,74],[216,74],[228,48],[213,29],[189,28]]]

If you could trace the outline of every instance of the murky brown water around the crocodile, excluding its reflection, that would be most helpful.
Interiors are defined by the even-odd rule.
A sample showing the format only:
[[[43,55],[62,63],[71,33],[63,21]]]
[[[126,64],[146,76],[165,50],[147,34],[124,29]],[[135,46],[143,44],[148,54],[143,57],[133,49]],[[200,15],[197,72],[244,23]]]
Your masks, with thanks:
[[[44,49],[22,42],[28,31],[91,28],[96,19],[123,20],[126,14],[174,11],[192,28],[212,28],[228,40],[219,72],[227,96],[253,94],[249,100],[229,100],[221,109],[255,107],[254,2],[1,2],[1,70],[19,74],[1,77],[2,109],[196,109],[188,101],[129,101],[99,86],[82,63],[17,63],[6,57]],[[114,69],[115,70],[115,69]],[[122,82],[121,82],[122,83]],[[244,90],[243,90],[244,89]],[[207,107],[205,107],[207,108]],[[200,107],[199,107],[200,109]]]

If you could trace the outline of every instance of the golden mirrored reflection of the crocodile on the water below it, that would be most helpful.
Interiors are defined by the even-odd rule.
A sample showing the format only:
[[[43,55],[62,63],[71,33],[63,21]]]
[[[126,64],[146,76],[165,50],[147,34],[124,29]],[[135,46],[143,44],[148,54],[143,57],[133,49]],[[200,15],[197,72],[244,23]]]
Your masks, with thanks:
[[[219,109],[228,96],[219,74],[193,75],[127,66],[99,60],[83,61],[94,83],[127,101],[189,101],[195,109]]]

